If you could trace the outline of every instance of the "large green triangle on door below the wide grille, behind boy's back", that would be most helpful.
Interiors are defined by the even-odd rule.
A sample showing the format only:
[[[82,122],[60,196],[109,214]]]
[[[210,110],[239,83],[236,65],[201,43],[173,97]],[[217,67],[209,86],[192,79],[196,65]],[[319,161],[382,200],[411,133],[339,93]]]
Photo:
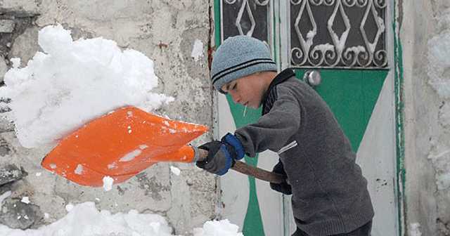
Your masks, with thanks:
[[[303,78],[307,70],[295,70]],[[322,83],[314,87],[338,119],[356,152],[371,119],[387,70],[319,70]]]

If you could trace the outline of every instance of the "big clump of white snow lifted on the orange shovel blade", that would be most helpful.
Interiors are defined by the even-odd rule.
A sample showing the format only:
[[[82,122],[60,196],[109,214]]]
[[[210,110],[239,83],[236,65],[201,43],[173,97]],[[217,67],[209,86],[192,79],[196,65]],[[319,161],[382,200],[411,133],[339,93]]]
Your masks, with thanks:
[[[125,105],[154,110],[174,100],[150,91],[158,86],[153,61],[121,51],[115,41],[79,39],[51,25],[39,31],[37,52],[26,67],[11,60],[0,96],[11,98],[13,122],[24,147],[55,143],[89,120]]]

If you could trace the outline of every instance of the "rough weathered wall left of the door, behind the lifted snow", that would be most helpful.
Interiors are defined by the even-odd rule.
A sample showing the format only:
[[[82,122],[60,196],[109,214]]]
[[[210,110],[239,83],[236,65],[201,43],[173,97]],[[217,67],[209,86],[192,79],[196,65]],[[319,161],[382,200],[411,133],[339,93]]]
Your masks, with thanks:
[[[0,79],[3,81],[4,72],[11,67],[9,59],[18,57],[26,63],[39,50],[41,27],[59,22],[72,30],[74,39],[103,37],[146,54],[155,63],[158,92],[175,98],[157,112],[212,126],[206,53],[209,12],[208,0],[0,0]],[[195,39],[204,45],[200,60],[191,57]],[[0,100],[1,111],[8,110],[7,103]],[[1,209],[2,224],[36,228],[65,216],[66,204],[86,201],[113,212],[136,209],[167,216],[175,233],[184,235],[216,215],[216,180],[193,164],[160,163],[104,192],[69,183],[41,169],[39,160],[49,147],[21,147],[10,122],[1,120],[0,132],[0,167],[14,164],[25,173],[0,186],[0,195],[12,190]],[[193,144],[211,137],[209,133]],[[170,165],[179,167],[181,174],[171,173]],[[14,217],[19,210],[13,206],[18,206],[22,197],[30,197],[31,203],[20,209],[34,216],[29,221]],[[44,217],[46,213],[49,217]]]

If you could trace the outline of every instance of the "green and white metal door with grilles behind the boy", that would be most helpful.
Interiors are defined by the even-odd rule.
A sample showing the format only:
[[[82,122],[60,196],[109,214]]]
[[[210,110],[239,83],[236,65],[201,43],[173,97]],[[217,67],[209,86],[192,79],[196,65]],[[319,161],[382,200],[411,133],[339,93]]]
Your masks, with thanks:
[[[375,207],[373,235],[397,235],[390,1],[221,0],[215,9],[217,45],[237,34],[266,41],[279,70],[293,68],[326,100],[368,180]],[[259,110],[244,111],[229,97],[218,95],[217,100],[219,136],[259,117]],[[278,157],[268,151],[245,161],[270,170]],[[223,216],[245,235],[295,231],[289,197],[236,173],[220,183]]]

